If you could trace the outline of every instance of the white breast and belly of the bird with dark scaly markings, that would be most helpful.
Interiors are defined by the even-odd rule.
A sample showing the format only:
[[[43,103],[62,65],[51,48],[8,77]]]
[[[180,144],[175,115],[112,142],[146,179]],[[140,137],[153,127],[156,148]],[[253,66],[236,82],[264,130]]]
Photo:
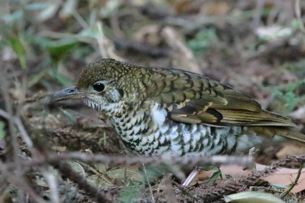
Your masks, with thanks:
[[[166,110],[153,104],[145,110],[125,111],[111,121],[124,144],[141,155],[230,154],[238,147],[237,140],[242,135],[240,126],[186,124],[166,116]]]

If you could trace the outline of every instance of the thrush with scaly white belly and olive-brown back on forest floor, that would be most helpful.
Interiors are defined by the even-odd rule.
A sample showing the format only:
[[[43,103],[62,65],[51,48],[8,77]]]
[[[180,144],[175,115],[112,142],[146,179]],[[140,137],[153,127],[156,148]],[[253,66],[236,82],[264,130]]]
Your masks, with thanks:
[[[263,110],[229,86],[180,69],[100,59],[50,102],[77,98],[109,118],[124,145],[138,155],[231,155],[275,135],[305,142],[291,119]]]

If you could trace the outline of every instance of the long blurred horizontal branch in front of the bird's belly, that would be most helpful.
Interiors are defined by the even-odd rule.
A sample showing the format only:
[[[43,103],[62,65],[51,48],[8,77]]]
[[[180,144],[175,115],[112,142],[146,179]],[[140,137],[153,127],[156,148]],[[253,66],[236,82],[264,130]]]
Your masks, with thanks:
[[[37,153],[42,155],[42,153]],[[46,163],[53,163],[58,160],[71,160],[76,159],[86,163],[104,163],[108,165],[158,165],[160,163],[169,166],[183,166],[184,169],[194,169],[196,166],[209,166],[209,165],[242,165],[253,167],[253,159],[248,156],[107,156],[107,155],[90,155],[82,152],[62,152],[50,153],[45,156],[36,156],[31,160],[20,160],[21,166],[42,166]],[[305,159],[305,158],[304,158]],[[0,171],[13,170],[14,163],[4,163],[0,165]]]

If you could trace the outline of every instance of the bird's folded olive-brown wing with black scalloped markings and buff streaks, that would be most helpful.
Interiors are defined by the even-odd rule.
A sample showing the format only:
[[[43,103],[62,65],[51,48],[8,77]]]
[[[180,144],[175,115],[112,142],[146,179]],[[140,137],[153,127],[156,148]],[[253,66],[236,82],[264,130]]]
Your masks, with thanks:
[[[262,110],[245,94],[196,73],[155,67],[143,85],[146,96],[160,103],[174,121],[215,126],[296,126],[289,118]]]

